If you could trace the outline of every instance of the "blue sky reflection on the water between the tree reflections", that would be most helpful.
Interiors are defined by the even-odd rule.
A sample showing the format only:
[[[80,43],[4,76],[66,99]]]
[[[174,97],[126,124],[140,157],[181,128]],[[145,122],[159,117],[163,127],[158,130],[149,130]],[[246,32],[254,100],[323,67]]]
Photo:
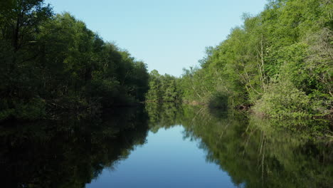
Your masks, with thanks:
[[[145,145],[86,187],[235,187],[218,165],[206,162],[199,141],[183,140],[182,132],[182,126],[149,132]]]

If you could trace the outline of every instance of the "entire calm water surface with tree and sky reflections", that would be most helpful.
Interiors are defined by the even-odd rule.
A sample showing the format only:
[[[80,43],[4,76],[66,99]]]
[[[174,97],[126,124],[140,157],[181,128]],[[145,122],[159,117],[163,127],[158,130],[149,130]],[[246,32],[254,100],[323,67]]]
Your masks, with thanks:
[[[0,187],[332,187],[329,126],[173,103],[7,122]]]

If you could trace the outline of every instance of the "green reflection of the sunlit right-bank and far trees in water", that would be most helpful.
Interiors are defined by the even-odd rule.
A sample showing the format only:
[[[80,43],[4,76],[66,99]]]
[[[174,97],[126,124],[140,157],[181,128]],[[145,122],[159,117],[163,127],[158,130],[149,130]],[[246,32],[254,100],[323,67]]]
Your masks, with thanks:
[[[206,160],[228,172],[236,186],[333,184],[333,147],[321,138],[329,131],[329,122],[264,120],[232,110],[189,105],[174,110],[176,105],[172,103],[152,106],[146,107],[149,117],[153,117],[149,123],[152,130],[183,125],[185,137],[200,140]]]

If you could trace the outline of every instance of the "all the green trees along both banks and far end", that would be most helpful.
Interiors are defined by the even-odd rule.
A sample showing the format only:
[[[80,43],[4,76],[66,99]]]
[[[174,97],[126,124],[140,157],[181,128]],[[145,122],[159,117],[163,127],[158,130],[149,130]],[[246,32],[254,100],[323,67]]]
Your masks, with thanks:
[[[144,62],[43,0],[1,1],[0,121],[165,101],[332,120],[332,10],[329,0],[268,1],[207,47],[199,67],[175,77],[148,73]]]

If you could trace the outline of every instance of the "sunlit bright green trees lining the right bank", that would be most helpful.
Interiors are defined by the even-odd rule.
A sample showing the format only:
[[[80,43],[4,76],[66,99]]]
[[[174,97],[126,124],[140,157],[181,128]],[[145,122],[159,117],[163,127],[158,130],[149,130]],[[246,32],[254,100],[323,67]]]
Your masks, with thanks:
[[[184,100],[213,101],[270,117],[332,112],[333,4],[272,0],[184,70]],[[217,103],[216,103],[217,102]]]

